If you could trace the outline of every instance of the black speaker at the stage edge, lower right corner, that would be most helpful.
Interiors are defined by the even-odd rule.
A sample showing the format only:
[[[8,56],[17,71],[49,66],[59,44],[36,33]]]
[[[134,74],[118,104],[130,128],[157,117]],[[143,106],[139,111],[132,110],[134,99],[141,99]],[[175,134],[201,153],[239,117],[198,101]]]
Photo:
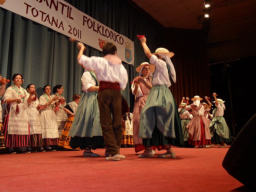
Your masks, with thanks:
[[[256,114],[232,142],[222,166],[252,191],[256,189]]]

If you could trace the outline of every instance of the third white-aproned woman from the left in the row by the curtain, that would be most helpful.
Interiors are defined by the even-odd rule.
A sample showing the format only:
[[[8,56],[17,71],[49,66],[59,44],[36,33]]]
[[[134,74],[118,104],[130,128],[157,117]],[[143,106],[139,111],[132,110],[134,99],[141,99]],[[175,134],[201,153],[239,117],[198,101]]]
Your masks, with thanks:
[[[50,95],[51,87],[49,85],[45,85],[43,90],[44,94],[39,98],[39,104],[42,106],[42,110],[40,111],[40,122],[42,126],[43,146],[46,151],[56,151],[54,146],[58,145],[59,134],[56,114],[54,112],[54,101],[58,100],[58,97],[54,96],[52,98]]]

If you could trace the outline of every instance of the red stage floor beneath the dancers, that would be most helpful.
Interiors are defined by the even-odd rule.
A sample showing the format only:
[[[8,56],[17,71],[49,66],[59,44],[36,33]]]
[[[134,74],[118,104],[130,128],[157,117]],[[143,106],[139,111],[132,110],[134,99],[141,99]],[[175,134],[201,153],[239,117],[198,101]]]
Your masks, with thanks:
[[[243,186],[222,167],[227,148],[173,148],[174,159],[138,158],[121,148],[126,159],[84,158],[80,151],[0,155],[0,191],[229,192]],[[165,151],[158,151],[162,154]],[[240,190],[241,191],[241,190]]]

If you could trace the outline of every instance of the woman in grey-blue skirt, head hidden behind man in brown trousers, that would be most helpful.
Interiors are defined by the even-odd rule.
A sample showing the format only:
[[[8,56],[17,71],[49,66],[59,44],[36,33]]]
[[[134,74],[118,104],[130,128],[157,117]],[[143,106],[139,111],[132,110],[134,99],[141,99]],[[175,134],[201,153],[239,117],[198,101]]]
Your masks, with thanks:
[[[81,81],[83,92],[69,132],[70,146],[84,149],[84,157],[99,157],[92,152],[92,149],[104,146],[97,99],[99,82],[95,73],[89,70],[85,70]],[[109,156],[109,153],[106,151],[105,155]]]

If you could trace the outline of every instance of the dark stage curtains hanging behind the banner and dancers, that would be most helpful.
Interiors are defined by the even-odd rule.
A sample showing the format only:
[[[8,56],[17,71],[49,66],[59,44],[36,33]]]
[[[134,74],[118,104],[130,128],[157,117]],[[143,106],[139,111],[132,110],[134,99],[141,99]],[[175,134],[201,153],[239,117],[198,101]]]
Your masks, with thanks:
[[[129,92],[130,82],[138,75],[136,67],[149,61],[144,55],[136,34],[145,35],[151,52],[164,47],[174,52],[172,62],[176,69],[177,83],[172,82],[172,94],[177,104],[181,98],[195,95],[209,96],[210,75],[206,38],[201,30],[164,28],[148,19],[125,0],[66,0],[78,10],[134,41],[134,66],[123,63],[128,71],[129,84],[122,92],[131,112],[134,96]],[[90,38],[90,37],[88,37]],[[86,46],[87,56],[102,56]],[[75,43],[68,37],[45,26],[32,22],[8,10],[0,9],[0,73],[12,78],[15,73],[24,76],[23,87],[36,85],[38,95],[45,84],[64,86],[67,102],[73,94],[82,92],[80,78],[83,68],[78,66]],[[10,84],[8,84],[10,86]]]

